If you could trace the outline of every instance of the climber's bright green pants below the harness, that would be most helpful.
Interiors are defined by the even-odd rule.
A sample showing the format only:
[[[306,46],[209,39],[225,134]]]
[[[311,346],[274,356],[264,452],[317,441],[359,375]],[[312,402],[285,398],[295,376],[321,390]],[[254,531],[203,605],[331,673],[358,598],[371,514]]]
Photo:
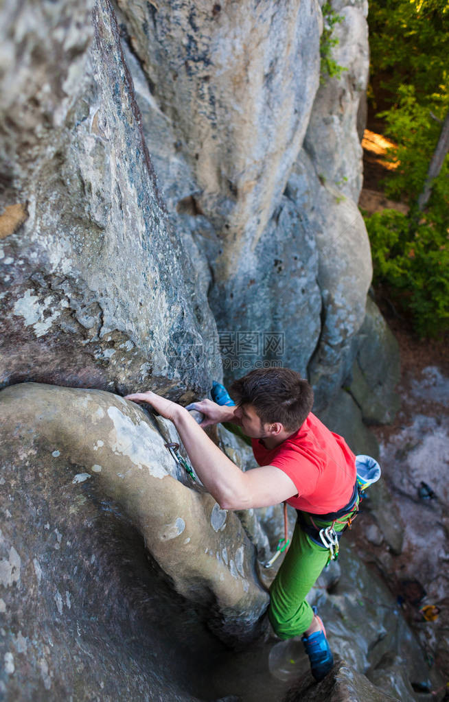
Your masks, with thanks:
[[[349,515],[339,519],[339,524],[334,524],[335,531],[342,531],[346,527],[346,522],[353,517],[357,506]],[[311,524],[310,515],[306,512],[302,512],[302,515]],[[318,529],[332,524],[316,517],[313,521]],[[327,564],[329,556],[329,549],[314,543],[301,529],[298,520],[292,543],[270,588],[268,618],[280,639],[304,634],[311,625],[313,611],[306,601],[306,595]]]

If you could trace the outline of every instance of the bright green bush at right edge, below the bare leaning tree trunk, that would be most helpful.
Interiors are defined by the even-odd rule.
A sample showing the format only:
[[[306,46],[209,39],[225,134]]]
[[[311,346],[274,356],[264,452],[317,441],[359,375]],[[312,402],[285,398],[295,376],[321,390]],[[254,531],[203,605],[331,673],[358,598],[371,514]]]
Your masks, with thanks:
[[[416,229],[408,216],[384,210],[365,217],[372,245],[375,284],[389,289],[408,312],[419,336],[449,329],[449,230],[422,218]]]

